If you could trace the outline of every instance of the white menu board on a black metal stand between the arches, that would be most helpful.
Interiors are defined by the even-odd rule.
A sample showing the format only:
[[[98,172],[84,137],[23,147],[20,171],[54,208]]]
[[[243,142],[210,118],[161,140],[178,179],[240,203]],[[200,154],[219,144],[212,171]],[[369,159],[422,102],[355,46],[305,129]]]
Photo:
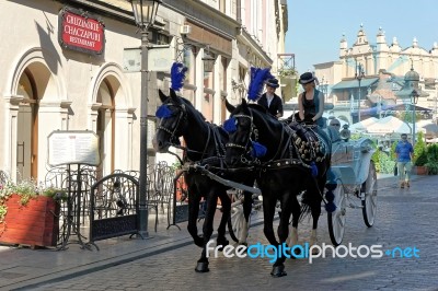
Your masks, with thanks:
[[[97,166],[99,137],[89,130],[56,130],[48,136],[48,164],[87,164]]]

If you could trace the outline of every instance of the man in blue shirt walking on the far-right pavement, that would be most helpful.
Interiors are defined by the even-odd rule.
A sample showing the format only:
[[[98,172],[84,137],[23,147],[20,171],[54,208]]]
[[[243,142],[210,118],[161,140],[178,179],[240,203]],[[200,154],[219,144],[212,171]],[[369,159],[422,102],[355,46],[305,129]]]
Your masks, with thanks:
[[[407,141],[407,135],[402,133],[401,140],[395,147],[395,156],[397,162],[400,188],[410,187],[410,176],[412,170],[412,160],[414,159],[414,148]]]

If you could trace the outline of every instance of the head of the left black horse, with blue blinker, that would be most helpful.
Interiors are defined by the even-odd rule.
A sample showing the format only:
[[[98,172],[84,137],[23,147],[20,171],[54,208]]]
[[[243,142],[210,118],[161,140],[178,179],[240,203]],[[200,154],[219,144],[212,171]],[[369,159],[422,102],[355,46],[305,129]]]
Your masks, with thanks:
[[[158,152],[166,152],[170,146],[180,146],[180,137],[187,124],[185,103],[175,94],[174,90],[171,89],[170,93],[168,96],[159,90],[163,104],[155,113],[159,124],[153,138],[153,148]]]

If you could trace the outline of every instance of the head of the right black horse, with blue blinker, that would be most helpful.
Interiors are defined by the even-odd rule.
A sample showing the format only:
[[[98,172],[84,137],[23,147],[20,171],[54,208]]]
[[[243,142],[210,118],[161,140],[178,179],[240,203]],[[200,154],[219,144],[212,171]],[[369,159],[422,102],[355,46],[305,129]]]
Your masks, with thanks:
[[[254,127],[253,113],[245,100],[238,107],[227,104],[231,113],[230,119],[223,124],[229,132],[226,144],[226,163],[228,165],[244,165],[257,156],[254,140],[257,139],[257,129]]]

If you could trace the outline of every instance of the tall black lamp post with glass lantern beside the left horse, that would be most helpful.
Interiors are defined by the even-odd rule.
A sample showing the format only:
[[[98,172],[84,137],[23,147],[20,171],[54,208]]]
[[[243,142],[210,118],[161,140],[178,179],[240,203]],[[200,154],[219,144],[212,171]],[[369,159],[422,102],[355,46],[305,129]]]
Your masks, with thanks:
[[[140,106],[140,177],[138,232],[148,236],[147,175],[148,175],[148,31],[157,16],[161,0],[130,0],[136,24],[141,32],[141,106]]]

